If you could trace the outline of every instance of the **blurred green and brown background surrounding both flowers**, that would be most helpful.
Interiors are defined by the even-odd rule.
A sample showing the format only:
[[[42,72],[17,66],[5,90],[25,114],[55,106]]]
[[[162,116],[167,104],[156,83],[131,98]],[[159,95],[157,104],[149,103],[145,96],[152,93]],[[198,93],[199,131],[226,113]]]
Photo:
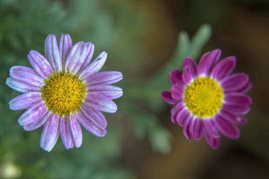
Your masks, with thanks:
[[[124,75],[116,86],[118,111],[106,113],[107,135],[83,129],[80,148],[58,139],[51,152],[39,147],[41,129],[24,131],[23,112],[8,101],[19,94],[4,82],[14,65],[30,67],[30,50],[44,54],[48,34],[69,33],[73,44],[108,52],[102,71]],[[248,123],[241,137],[221,137],[212,150],[191,143],[170,121],[160,98],[170,70],[221,48],[236,55],[235,72],[250,76]],[[0,0],[1,179],[267,179],[269,176],[269,2],[265,0]]]

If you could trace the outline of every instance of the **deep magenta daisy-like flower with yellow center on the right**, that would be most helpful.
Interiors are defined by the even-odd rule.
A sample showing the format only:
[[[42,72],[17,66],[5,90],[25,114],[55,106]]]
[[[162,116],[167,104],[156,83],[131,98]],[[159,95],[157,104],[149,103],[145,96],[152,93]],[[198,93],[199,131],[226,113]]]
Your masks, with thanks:
[[[250,88],[249,77],[244,73],[232,74],[236,57],[220,62],[221,50],[205,53],[197,64],[191,58],[182,62],[183,73],[172,70],[170,91],[161,92],[161,98],[175,104],[171,120],[183,127],[185,137],[199,140],[205,134],[207,143],[216,149],[221,132],[237,139],[236,124],[246,123],[242,115],[250,111],[252,99],[245,94]]]

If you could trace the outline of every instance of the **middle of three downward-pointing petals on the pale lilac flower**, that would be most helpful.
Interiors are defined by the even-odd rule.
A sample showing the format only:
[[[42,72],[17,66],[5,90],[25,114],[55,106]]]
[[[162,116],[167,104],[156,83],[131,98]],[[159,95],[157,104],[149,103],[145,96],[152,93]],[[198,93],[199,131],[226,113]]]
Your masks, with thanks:
[[[74,147],[74,140],[70,126],[69,116],[62,116],[60,121],[60,133],[63,145],[66,149]]]

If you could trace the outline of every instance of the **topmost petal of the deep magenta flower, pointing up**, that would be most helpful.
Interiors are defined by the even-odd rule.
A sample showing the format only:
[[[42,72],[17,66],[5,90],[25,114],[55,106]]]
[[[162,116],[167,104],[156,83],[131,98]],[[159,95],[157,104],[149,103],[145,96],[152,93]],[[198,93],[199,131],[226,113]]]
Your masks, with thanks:
[[[216,63],[219,61],[221,56],[221,50],[215,49],[212,52],[205,53],[199,62],[198,65],[198,76],[204,75],[209,76],[212,69],[216,65]]]

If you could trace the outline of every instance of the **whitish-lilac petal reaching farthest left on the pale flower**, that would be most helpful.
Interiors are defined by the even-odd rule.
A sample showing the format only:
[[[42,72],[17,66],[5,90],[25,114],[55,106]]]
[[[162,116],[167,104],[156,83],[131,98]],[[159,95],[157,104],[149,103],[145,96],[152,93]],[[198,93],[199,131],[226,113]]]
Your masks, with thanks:
[[[40,87],[32,86],[25,84],[24,82],[17,81],[15,79],[12,79],[8,77],[5,80],[5,84],[10,87],[11,89],[15,89],[16,91],[19,92],[33,92],[33,91],[39,91]]]

